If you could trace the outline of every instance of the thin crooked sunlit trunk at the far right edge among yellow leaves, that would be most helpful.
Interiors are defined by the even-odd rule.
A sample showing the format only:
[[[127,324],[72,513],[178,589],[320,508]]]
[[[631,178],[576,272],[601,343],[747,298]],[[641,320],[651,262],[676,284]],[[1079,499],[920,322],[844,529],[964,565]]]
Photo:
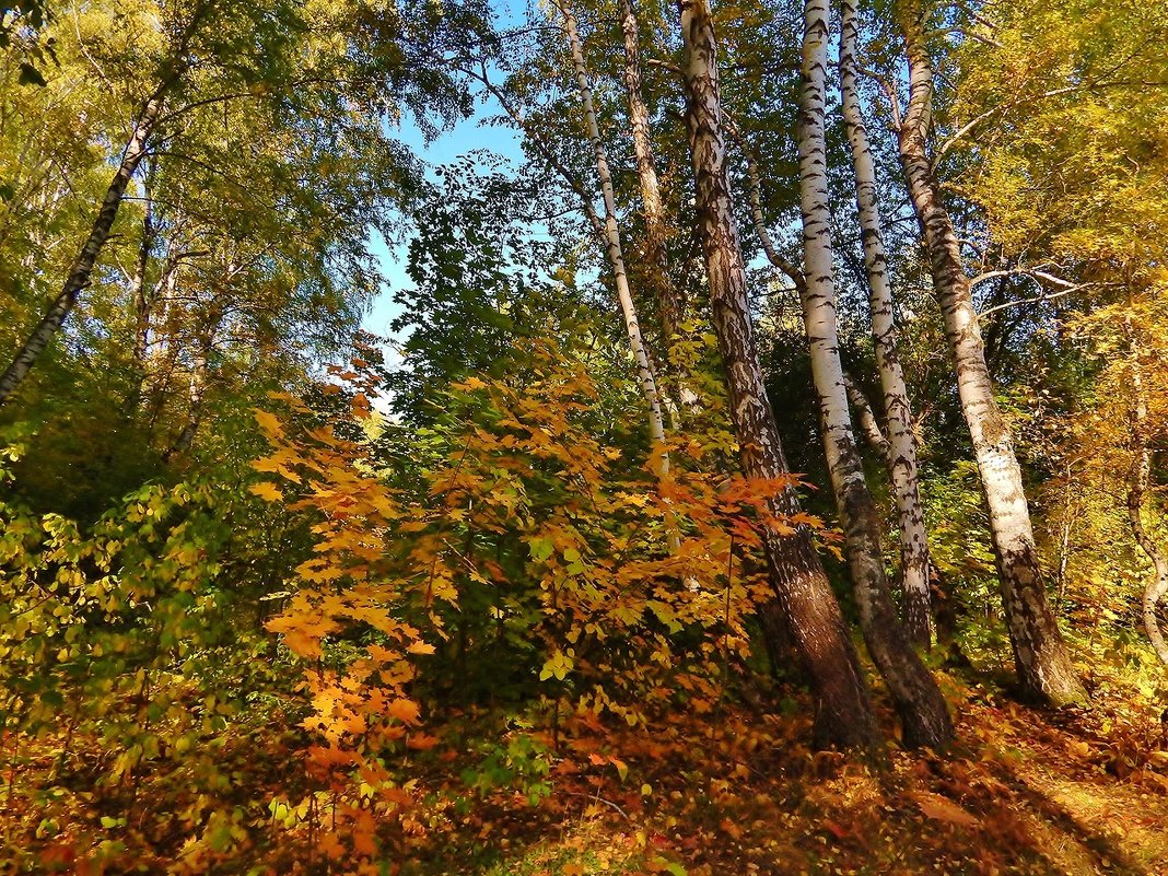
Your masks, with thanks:
[[[1148,446],[1148,399],[1143,388],[1143,368],[1140,364],[1140,347],[1132,328],[1132,318],[1124,317],[1124,333],[1127,335],[1128,361],[1131,363],[1132,388],[1132,460],[1127,488],[1127,519],[1132,524],[1132,535],[1136,544],[1152,561],[1152,578],[1143,589],[1141,607],[1143,610],[1143,628],[1148,633],[1160,662],[1168,666],[1168,641],[1164,641],[1156,607],[1164,592],[1168,592],[1168,557],[1164,557],[1160,545],[1155,543],[1143,526],[1143,496],[1148,492],[1152,478],[1152,449]]]

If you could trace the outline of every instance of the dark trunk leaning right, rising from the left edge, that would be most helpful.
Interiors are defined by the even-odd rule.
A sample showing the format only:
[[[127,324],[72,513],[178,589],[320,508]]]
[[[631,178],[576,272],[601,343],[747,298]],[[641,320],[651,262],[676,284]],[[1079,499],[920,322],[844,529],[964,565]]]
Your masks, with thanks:
[[[97,217],[93,220],[93,227],[90,230],[89,237],[69,267],[69,274],[65,278],[61,294],[57,296],[44,317],[41,318],[41,321],[28,335],[28,339],[16,353],[15,359],[13,359],[12,364],[0,376],[0,405],[8,401],[23,382],[25,377],[28,376],[29,370],[77,303],[77,296],[89,285],[90,273],[92,273],[97,257],[110,236],[110,229],[113,227],[113,220],[117,218],[118,208],[121,206],[126,187],[130,185],[134,171],[138,169],[138,165],[141,164],[142,158],[146,155],[150,137],[161,112],[162,92],[160,89],[146,100],[141,113],[138,116],[133,134],[130,137],[125,152],[121,154],[121,164],[118,166],[118,171],[113,174],[113,180],[105,192],[105,197],[102,201]]]

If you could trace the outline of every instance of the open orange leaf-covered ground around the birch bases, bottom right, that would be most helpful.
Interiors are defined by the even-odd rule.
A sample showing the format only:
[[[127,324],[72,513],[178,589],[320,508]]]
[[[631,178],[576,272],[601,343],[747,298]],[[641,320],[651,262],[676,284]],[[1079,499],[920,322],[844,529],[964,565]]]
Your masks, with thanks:
[[[1043,712],[947,681],[961,742],[945,757],[894,746],[865,764],[801,745],[802,716],[690,717],[610,738],[625,780],[591,777],[595,791],[561,800],[561,819],[520,807],[484,822],[496,836],[473,846],[493,848],[493,865],[467,848],[474,863],[444,870],[436,858],[434,871],[1168,874],[1159,714],[1098,691],[1091,711]],[[439,858],[459,860],[450,851]]]

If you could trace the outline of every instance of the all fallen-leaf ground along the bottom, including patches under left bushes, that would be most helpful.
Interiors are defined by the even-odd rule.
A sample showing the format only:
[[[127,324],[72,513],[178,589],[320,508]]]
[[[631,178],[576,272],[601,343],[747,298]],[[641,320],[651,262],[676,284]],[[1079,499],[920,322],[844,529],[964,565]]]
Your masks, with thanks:
[[[1168,741],[1157,707],[1143,701],[1143,708],[1134,708],[1131,691],[1107,693],[1103,684],[1093,691],[1090,711],[1040,711],[988,681],[940,677],[960,737],[945,756],[895,744],[877,762],[813,752],[806,746],[809,702],[801,696],[757,708],[728,700],[712,711],[675,714],[649,728],[565,725],[554,749],[536,743],[533,750],[530,741],[551,741],[513,730],[513,739],[529,741],[508,756],[507,763],[520,766],[481,791],[467,783],[473,785],[474,770],[484,769],[482,749],[472,753],[451,745],[445,755],[436,749],[429,772],[418,780],[445,788],[447,804],[419,813],[410,830],[378,828],[382,854],[394,848],[401,854],[366,871],[1168,874]],[[892,724],[890,715],[883,717]],[[301,770],[294,746],[277,745],[262,755],[255,737],[239,741],[235,757],[241,769],[232,776],[277,787]],[[150,839],[150,829],[131,829],[135,819],[148,823],[154,818],[155,837],[178,836],[173,828],[186,818],[176,814],[182,807],[178,798],[159,793],[176,779],[181,785],[178,771],[142,777],[135,798],[135,806],[145,807],[140,815],[104,805],[107,794],[99,784],[82,790],[75,777],[65,783],[69,797],[58,797],[60,806],[50,813],[57,836],[50,840],[44,836],[48,815],[35,801],[64,794],[43,781],[53,745],[49,737],[29,745],[30,755],[42,753],[5,777],[0,874],[349,871],[345,854],[332,863],[320,856],[312,863],[310,853],[306,864],[306,847],[292,834],[265,840],[255,833],[242,844],[224,847],[223,854],[207,853],[183,864],[187,849],[179,848],[180,840]],[[231,758],[228,752],[222,757]],[[540,770],[522,774],[522,764],[536,762]],[[264,818],[271,823],[262,787],[229,793],[228,800],[253,801],[244,808],[259,813],[260,829]],[[459,806],[459,798],[474,802]],[[130,828],[117,826],[126,823],[113,818],[119,812],[128,815]],[[98,821],[111,829],[103,830]],[[99,865],[84,863],[86,847],[93,849],[95,840],[110,835],[120,836],[121,851]]]

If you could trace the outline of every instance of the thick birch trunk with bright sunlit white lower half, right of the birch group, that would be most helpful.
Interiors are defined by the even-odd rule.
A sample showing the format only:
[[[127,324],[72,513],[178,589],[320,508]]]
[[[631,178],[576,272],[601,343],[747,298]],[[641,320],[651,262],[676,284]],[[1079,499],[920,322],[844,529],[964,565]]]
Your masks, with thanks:
[[[960,244],[929,160],[933,74],[924,15],[922,0],[899,0],[897,23],[909,58],[909,105],[897,132],[901,165],[929,253],[961,412],[981,473],[1018,681],[1024,694],[1061,705],[1086,694],[1047,598],[1014,439],[994,399]]]

